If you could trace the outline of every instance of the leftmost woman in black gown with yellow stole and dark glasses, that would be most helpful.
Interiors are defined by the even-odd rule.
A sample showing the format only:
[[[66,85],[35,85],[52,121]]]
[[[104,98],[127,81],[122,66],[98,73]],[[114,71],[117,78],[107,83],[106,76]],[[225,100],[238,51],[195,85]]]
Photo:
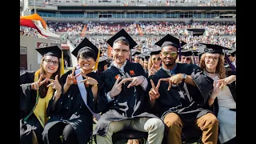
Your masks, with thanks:
[[[62,50],[58,46],[36,49],[42,54],[40,68],[20,74],[20,143],[42,144],[42,130],[48,118],[46,108],[51,98],[58,98]]]

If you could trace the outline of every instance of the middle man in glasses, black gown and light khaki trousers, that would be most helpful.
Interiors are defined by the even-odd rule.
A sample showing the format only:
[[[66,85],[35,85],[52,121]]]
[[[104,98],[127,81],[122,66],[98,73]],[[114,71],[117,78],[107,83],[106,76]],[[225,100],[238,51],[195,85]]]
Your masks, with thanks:
[[[112,47],[114,62],[101,75],[99,93],[107,98],[108,105],[94,129],[97,142],[112,144],[113,133],[131,129],[148,132],[149,143],[161,143],[165,127],[160,118],[149,113],[145,71],[141,64],[126,59],[137,43],[123,29],[107,43]]]

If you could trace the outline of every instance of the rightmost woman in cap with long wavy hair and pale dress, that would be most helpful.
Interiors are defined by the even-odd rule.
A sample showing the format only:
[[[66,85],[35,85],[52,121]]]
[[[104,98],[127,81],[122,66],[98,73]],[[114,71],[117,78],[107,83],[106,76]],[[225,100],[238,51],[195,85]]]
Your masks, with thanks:
[[[214,88],[206,105],[214,112],[219,121],[218,140],[221,144],[236,143],[236,76],[226,77],[224,67],[225,47],[211,44],[206,45],[202,54],[200,67],[204,73],[214,80]]]

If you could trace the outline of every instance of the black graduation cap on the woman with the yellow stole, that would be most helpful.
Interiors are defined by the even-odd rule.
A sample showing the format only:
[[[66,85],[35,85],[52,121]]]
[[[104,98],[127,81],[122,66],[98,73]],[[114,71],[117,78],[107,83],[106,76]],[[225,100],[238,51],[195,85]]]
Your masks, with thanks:
[[[54,56],[57,58],[62,58],[62,50],[58,46],[49,46],[49,47],[43,47],[38,50],[38,53],[42,54],[42,56]]]

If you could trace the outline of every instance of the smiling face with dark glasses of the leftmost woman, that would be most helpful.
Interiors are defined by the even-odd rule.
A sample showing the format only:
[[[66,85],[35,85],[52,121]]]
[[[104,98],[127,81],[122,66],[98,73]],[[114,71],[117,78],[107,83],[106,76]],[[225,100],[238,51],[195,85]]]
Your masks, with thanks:
[[[58,70],[59,62],[58,58],[47,55],[43,58],[42,68],[48,74],[54,74]]]

